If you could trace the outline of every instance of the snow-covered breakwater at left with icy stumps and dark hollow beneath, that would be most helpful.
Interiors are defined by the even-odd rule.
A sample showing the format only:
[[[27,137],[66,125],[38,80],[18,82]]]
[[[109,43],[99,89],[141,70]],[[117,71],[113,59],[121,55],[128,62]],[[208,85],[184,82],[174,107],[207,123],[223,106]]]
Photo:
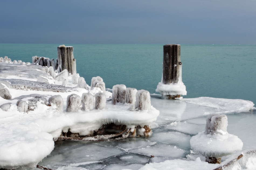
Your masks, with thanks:
[[[135,107],[135,103],[124,100],[112,104],[112,97],[113,100],[117,97],[106,91],[103,81],[95,77],[91,88],[78,74],[63,73],[66,70],[55,73],[56,77],[64,74],[56,79],[47,67],[40,65],[0,62],[0,68],[0,152],[8,153],[0,155],[2,168],[35,167],[51,153],[58,137],[103,135],[101,140],[104,140],[108,129],[116,132],[128,129],[126,137],[150,136],[150,125],[159,115],[150,105],[150,96],[147,108]],[[125,93],[115,95],[129,98]],[[136,93],[129,101],[134,98]]]

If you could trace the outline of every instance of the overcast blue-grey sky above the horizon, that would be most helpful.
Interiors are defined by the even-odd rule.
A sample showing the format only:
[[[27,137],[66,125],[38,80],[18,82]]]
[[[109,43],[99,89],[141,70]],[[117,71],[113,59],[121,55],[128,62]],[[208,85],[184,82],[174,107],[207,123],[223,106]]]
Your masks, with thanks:
[[[256,0],[2,0],[0,43],[256,44]]]

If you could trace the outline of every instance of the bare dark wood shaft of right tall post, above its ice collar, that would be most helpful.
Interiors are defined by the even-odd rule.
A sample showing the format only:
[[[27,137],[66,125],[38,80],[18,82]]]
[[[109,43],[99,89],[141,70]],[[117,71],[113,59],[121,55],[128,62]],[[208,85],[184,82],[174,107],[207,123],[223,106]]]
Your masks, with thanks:
[[[178,83],[181,63],[181,45],[164,45],[163,84]]]

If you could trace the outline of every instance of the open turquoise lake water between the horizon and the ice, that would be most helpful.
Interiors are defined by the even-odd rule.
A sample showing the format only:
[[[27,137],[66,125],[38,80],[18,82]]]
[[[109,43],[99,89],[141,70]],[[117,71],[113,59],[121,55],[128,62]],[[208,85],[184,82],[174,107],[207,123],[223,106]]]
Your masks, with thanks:
[[[61,44],[0,44],[0,56],[32,62],[57,58]],[[77,73],[91,84],[101,76],[106,88],[125,84],[156,93],[162,77],[163,45],[65,44],[74,47]],[[184,98],[216,97],[256,103],[256,45],[181,45]],[[1,68],[0,68],[1,69]]]

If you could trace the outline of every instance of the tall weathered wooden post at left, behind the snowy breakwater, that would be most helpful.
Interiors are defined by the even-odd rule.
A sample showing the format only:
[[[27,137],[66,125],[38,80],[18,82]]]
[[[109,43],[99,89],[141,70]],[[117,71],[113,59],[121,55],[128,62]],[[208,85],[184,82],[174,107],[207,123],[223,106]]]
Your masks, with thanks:
[[[65,45],[60,45],[58,47],[58,67],[59,72],[67,69],[68,73],[77,73],[73,47],[65,47]]]

